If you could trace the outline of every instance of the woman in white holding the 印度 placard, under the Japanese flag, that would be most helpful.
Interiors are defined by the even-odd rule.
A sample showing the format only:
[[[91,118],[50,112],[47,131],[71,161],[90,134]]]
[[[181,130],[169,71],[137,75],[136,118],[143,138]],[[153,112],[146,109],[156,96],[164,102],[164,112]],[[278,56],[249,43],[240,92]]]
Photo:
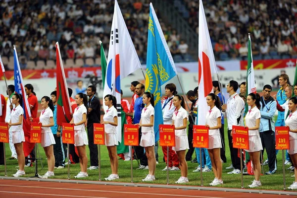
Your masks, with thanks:
[[[208,132],[208,153],[214,174],[214,180],[209,184],[210,186],[217,186],[223,184],[222,181],[222,161],[221,161],[221,111],[220,99],[217,95],[210,93],[206,96],[206,103],[210,110],[206,113],[206,127]]]

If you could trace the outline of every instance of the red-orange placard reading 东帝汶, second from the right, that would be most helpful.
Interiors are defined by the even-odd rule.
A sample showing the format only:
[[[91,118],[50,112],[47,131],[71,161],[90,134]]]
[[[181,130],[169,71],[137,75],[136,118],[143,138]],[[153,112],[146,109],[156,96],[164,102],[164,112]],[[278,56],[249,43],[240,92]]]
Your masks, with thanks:
[[[232,126],[233,148],[249,149],[248,128]]]

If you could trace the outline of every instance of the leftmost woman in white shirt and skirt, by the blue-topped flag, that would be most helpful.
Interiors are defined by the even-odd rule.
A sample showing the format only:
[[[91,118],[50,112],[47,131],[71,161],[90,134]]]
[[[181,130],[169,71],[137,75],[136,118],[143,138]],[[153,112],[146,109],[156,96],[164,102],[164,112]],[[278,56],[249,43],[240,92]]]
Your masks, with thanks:
[[[18,93],[15,93],[11,98],[11,102],[15,105],[15,108],[11,111],[11,117],[10,122],[8,123],[8,127],[11,128],[12,131],[12,143],[15,147],[17,161],[20,169],[17,170],[15,174],[13,174],[13,177],[21,177],[25,175],[25,155],[23,151],[23,142],[25,141],[25,135],[23,131],[24,110],[20,105],[22,104],[22,96]]]

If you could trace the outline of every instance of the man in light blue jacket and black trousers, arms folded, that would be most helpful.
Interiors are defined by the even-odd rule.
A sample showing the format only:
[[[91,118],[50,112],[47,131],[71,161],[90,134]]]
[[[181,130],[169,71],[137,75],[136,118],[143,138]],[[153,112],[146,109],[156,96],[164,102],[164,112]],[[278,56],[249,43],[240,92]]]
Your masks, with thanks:
[[[268,156],[269,171],[266,175],[275,173],[276,166],[276,150],[275,150],[275,128],[273,122],[273,115],[276,111],[276,101],[270,96],[272,87],[266,84],[263,87],[263,96],[260,98],[260,137],[263,146],[262,156],[264,149],[266,149]],[[263,162],[262,162],[263,163]]]

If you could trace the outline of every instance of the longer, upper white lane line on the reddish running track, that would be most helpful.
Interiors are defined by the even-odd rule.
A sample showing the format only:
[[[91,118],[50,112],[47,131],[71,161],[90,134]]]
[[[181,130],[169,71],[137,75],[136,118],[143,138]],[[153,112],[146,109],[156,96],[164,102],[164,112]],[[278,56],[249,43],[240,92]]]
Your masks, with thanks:
[[[105,193],[123,193],[123,194],[135,194],[135,195],[172,196],[172,197],[187,197],[187,198],[219,198],[219,197],[190,196],[190,195],[173,195],[173,194],[157,194],[157,193],[135,193],[135,192],[101,191],[101,190],[86,190],[86,189],[64,189],[64,188],[37,187],[37,186],[18,186],[18,185],[2,185],[2,184],[0,184],[0,186],[6,186],[6,187],[22,187],[22,188],[40,188],[40,189],[55,189],[55,190],[70,190],[70,191],[105,192]]]

